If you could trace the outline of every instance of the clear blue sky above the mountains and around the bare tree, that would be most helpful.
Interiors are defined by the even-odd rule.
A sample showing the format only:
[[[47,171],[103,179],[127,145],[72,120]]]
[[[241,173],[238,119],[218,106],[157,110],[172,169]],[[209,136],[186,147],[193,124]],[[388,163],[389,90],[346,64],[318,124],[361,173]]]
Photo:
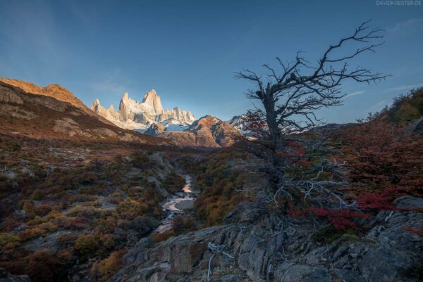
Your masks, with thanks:
[[[298,50],[316,62],[368,19],[386,29],[386,44],[354,62],[392,77],[347,82],[344,105],[319,113],[350,122],[423,86],[423,3],[0,0],[0,77],[59,83],[87,105],[99,98],[115,108],[125,91],[141,100],[156,89],[165,108],[227,120],[251,108],[252,85],[233,72],[265,72],[263,63]]]

